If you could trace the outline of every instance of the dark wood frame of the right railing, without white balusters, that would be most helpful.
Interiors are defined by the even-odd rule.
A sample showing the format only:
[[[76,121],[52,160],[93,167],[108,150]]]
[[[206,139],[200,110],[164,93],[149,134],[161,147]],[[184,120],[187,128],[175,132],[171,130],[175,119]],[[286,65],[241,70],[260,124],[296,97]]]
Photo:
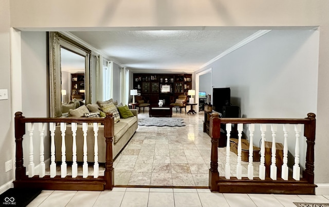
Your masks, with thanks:
[[[211,162],[209,170],[209,188],[211,191],[218,191],[222,193],[300,193],[300,194],[314,194],[314,145],[315,145],[315,129],[316,129],[316,115],[308,113],[306,118],[220,118],[219,113],[213,112],[210,117],[210,137],[211,137]],[[302,181],[294,183],[291,179],[288,180],[287,185],[284,185],[283,180],[248,180],[248,179],[231,179],[227,180],[225,177],[220,177],[218,173],[218,152],[217,143],[221,138],[221,125],[226,123],[275,123],[275,124],[302,124],[304,125],[304,136],[306,137],[306,164],[305,171],[303,171]],[[229,146],[227,146],[229,147]],[[293,179],[294,180],[294,179]],[[259,183],[263,183],[263,190],[260,190]],[[305,184],[307,182],[308,184]],[[240,185],[239,185],[240,183]],[[265,188],[267,185],[268,189]],[[258,187],[257,187],[258,186]],[[271,190],[271,188],[273,190]],[[275,189],[276,188],[276,189]],[[256,191],[257,189],[257,191]],[[280,190],[278,190],[280,189]],[[282,189],[282,190],[281,190]]]

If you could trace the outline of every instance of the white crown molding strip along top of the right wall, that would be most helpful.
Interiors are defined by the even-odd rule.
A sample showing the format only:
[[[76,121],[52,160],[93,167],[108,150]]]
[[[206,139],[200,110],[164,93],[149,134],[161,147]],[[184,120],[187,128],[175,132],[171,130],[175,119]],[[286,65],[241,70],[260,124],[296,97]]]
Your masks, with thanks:
[[[228,50],[224,51],[223,53],[221,53],[220,55],[216,56],[215,58],[209,60],[207,63],[205,63],[204,65],[202,65],[199,69],[205,68],[208,65],[214,63],[214,61],[221,59],[222,57],[224,57],[225,55],[233,52],[234,50],[237,50],[239,48],[241,48],[242,46],[247,45],[248,43],[252,42],[253,40],[263,36],[264,34],[270,32],[271,30],[259,30],[255,33],[253,33],[252,35],[250,35],[249,37],[245,38],[244,40],[242,40],[240,43],[237,43],[236,45],[234,45],[233,47],[229,48]],[[199,70],[197,69],[197,70]]]

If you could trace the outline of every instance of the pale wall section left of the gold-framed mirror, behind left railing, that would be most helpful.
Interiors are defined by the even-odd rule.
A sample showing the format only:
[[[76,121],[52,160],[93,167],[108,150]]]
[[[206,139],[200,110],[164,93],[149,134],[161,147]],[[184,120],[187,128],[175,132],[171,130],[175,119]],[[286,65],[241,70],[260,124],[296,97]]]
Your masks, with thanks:
[[[47,66],[46,32],[21,32],[22,38],[22,106],[25,117],[49,117],[49,69]],[[41,87],[43,86],[43,87]],[[39,125],[34,125],[33,148],[35,166],[40,163]],[[47,130],[48,128],[46,128]],[[26,128],[27,130],[27,128]],[[29,163],[29,133],[23,136],[24,166]],[[50,138],[45,132],[45,159],[50,153]]]

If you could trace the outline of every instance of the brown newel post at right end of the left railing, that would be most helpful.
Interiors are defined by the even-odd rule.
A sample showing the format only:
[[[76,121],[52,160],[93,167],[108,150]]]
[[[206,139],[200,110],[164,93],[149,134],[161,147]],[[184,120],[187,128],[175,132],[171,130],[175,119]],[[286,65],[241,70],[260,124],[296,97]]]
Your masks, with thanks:
[[[112,113],[106,113],[104,118],[104,137],[106,143],[105,150],[105,190],[112,190],[114,187],[114,168],[113,168],[113,136],[114,136],[114,118]]]

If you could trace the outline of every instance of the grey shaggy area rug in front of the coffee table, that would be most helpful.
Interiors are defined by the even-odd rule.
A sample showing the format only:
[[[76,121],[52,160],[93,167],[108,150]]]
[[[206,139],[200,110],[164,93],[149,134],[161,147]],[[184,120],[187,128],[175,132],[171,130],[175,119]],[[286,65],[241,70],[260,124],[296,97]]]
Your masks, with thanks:
[[[156,126],[156,127],[183,127],[184,119],[171,117],[147,117],[138,119],[139,126]]]

